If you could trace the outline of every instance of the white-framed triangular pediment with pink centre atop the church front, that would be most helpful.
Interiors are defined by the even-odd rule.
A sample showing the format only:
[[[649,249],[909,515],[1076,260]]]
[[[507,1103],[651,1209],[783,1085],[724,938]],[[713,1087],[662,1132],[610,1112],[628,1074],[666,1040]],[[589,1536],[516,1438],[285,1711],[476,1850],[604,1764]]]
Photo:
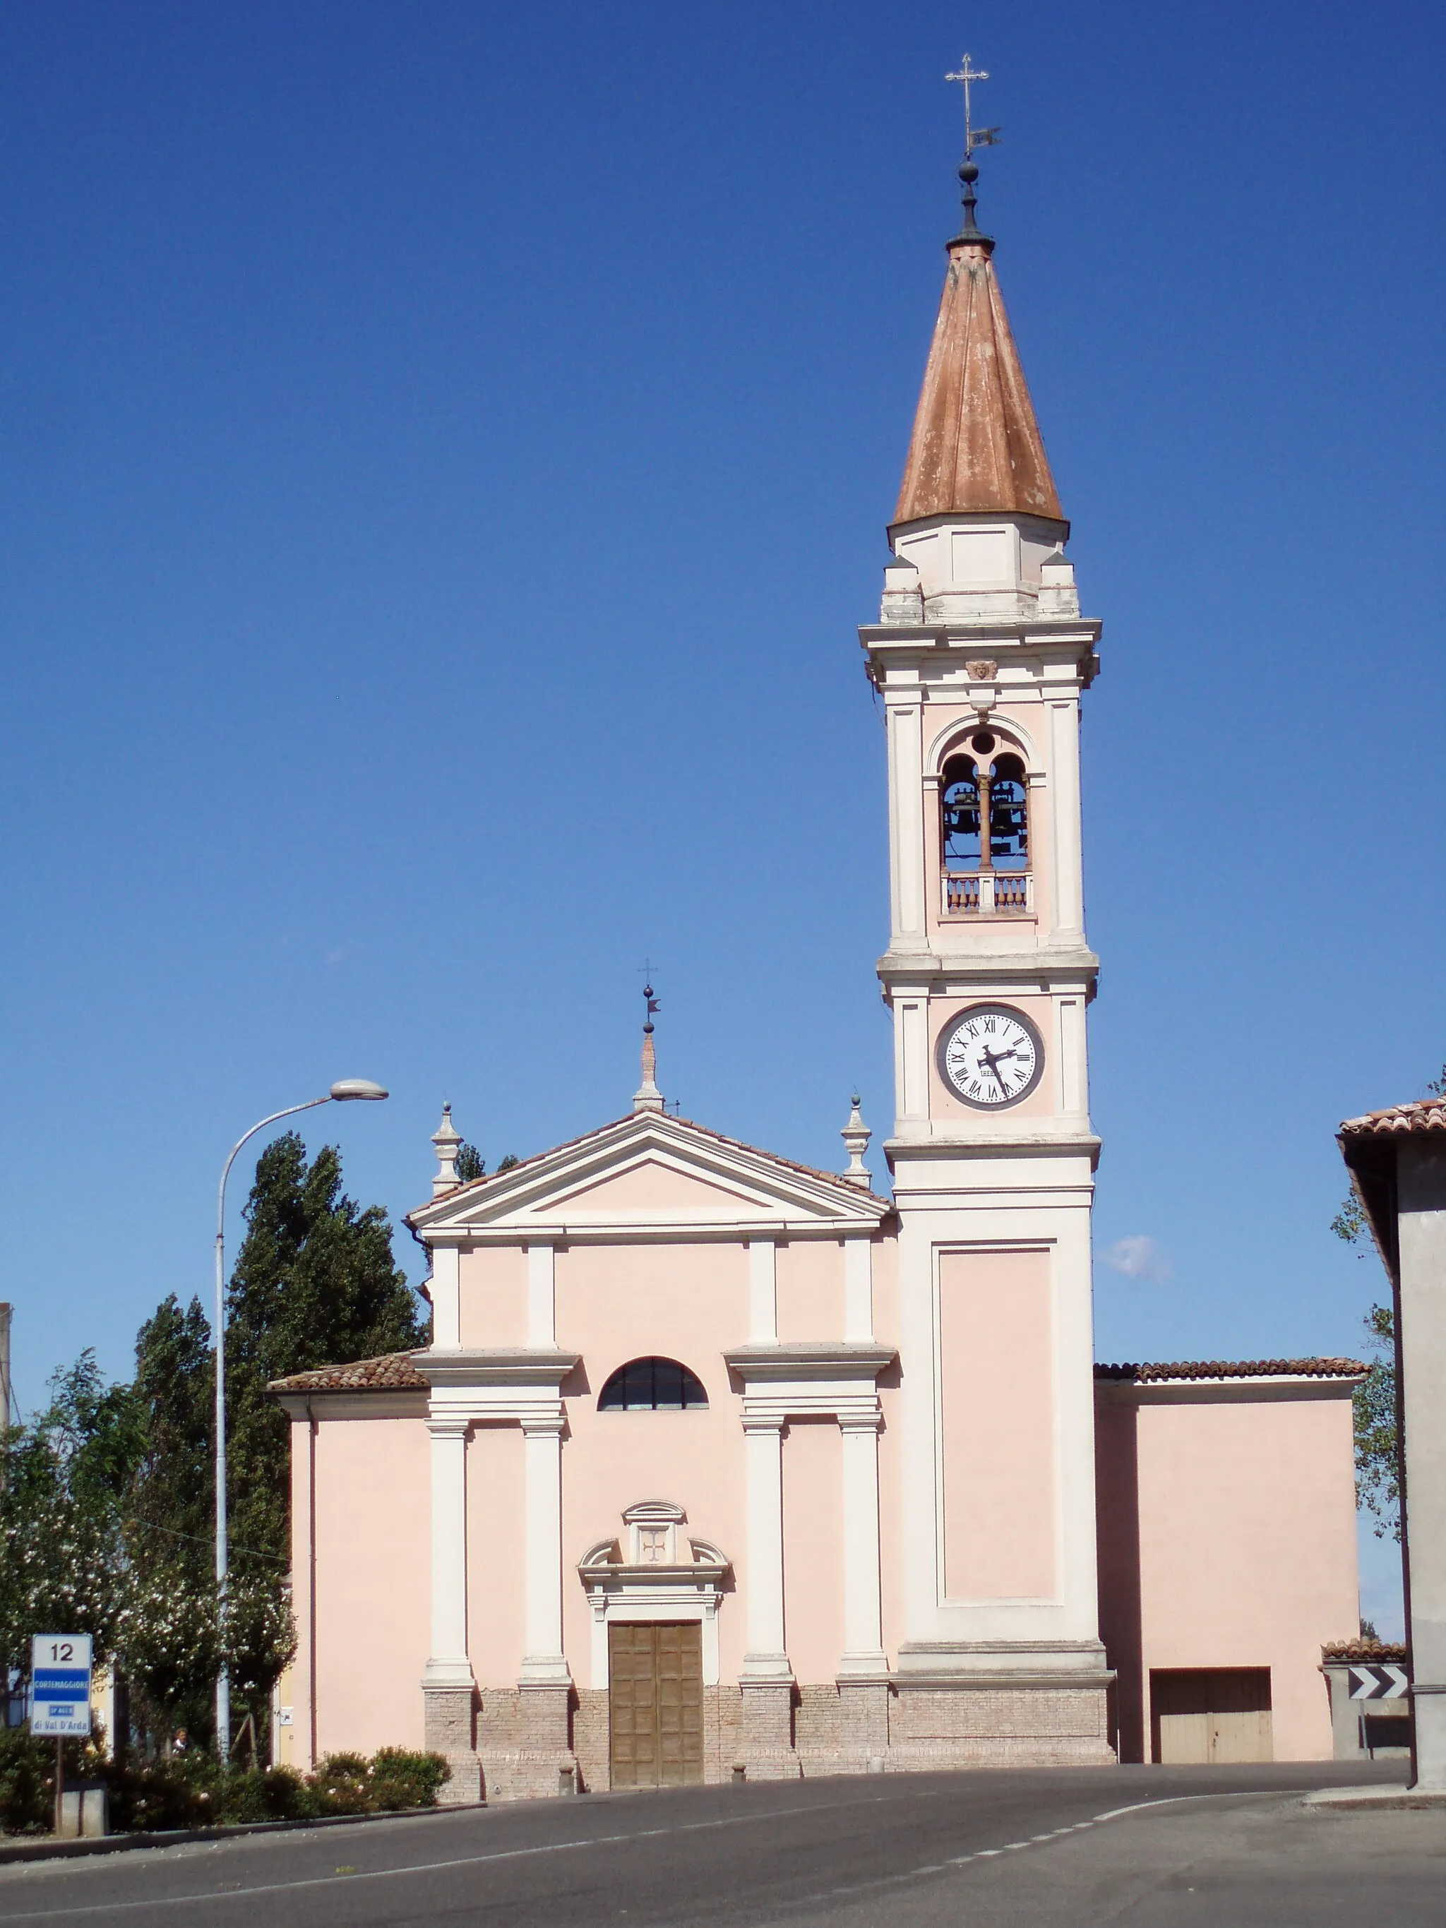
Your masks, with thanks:
[[[686,1118],[634,1112],[586,1138],[476,1180],[409,1215],[424,1238],[467,1230],[519,1238],[777,1230],[866,1230],[887,1199],[829,1172],[792,1165]]]

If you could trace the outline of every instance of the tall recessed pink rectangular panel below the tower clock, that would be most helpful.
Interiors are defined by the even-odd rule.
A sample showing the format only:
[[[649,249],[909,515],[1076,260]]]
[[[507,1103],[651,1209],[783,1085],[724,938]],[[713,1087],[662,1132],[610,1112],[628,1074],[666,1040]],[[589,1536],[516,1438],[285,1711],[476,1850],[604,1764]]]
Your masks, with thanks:
[[[1055,1591],[1049,1253],[943,1253],[945,1585],[954,1600]]]

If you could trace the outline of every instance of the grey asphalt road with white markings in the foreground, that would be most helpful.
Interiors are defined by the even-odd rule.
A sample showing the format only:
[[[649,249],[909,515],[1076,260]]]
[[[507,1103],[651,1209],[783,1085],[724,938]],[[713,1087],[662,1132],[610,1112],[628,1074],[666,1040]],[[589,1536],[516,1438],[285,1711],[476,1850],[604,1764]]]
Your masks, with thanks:
[[[1415,1928],[1446,1916],[1446,1814],[1296,1797],[1400,1778],[1313,1762],[582,1795],[13,1864],[0,1922]]]

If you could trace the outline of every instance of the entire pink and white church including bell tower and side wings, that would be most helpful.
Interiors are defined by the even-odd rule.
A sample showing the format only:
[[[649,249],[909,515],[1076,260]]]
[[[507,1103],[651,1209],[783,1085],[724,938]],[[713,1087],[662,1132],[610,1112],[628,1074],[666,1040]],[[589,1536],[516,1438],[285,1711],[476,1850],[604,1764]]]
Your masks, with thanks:
[[[970,189],[860,630],[893,1193],[858,1101],[841,1172],[671,1116],[652,1031],[630,1111],[497,1176],[443,1114],[430,1346],[274,1388],[293,1758],[426,1743],[449,1799],[1170,1758],[1176,1675],[1232,1670],[1193,1691],[1265,1695],[1247,1745],[1330,1753],[1359,1367],[1093,1359],[1066,538]]]

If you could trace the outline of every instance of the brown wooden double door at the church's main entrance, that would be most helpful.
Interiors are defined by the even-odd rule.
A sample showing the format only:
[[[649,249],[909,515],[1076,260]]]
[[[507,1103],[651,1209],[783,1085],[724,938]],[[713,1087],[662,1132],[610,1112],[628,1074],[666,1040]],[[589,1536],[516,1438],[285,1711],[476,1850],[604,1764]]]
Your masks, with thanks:
[[[704,1645],[696,1620],[607,1627],[613,1787],[698,1787],[704,1780]]]

